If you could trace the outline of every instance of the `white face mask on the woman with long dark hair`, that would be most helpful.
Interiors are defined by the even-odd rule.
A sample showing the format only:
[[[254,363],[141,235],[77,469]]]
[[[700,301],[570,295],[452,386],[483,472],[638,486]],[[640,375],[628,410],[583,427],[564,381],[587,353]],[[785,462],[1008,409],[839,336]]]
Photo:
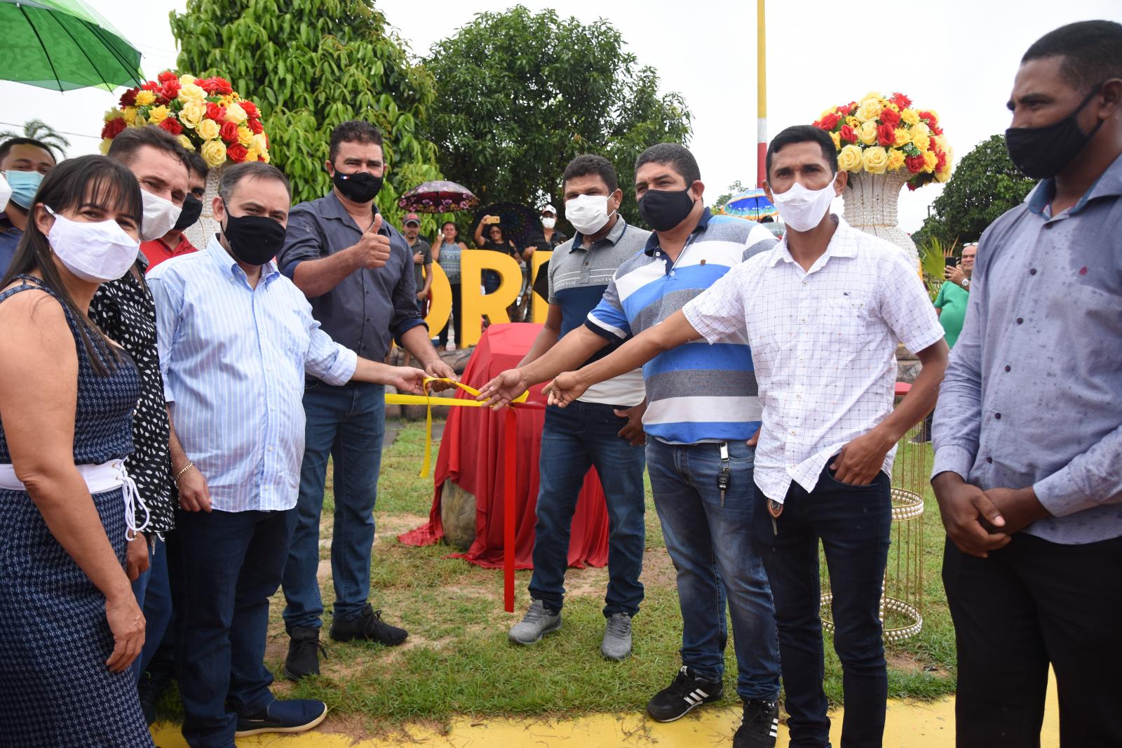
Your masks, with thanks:
[[[136,262],[140,243],[126,234],[117,221],[86,224],[72,221],[50,208],[47,212],[55,217],[47,234],[50,248],[66,270],[83,281],[116,281]]]

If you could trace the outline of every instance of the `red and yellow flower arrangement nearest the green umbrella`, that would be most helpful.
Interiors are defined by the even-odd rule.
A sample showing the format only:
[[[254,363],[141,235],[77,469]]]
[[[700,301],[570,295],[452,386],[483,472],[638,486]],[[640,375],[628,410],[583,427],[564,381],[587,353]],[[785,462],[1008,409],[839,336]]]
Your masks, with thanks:
[[[228,162],[269,161],[269,138],[257,104],[242,99],[222,77],[195,77],[164,71],[121,97],[105,113],[102,153],[127,127],[156,125],[197,150],[211,168]]]

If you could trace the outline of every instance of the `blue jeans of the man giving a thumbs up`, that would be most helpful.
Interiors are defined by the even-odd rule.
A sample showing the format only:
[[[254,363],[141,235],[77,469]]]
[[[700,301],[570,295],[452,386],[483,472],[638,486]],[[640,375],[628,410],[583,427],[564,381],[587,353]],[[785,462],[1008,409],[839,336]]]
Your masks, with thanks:
[[[331,386],[315,380],[304,390],[304,463],[300,468],[296,529],[284,572],[285,628],[323,626],[323,600],[315,573],[320,566],[320,513],[334,465],[334,527],[331,576],[334,618],[359,617],[370,596],[374,504],[378,498],[381,437],[386,432],[386,387],[351,382]]]

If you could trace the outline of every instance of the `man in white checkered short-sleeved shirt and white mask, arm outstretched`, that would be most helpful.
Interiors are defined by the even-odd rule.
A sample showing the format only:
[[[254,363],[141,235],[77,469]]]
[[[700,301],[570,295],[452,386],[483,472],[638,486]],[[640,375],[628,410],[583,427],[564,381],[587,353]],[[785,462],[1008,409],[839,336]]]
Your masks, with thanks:
[[[733,268],[674,316],[550,385],[565,404],[662,350],[744,330],[763,427],[752,528],[775,599],[791,746],[829,745],[822,692],[818,541],[844,671],[843,745],[880,746],[888,675],[879,605],[891,527],[889,476],[900,438],[935,405],[947,345],[916,268],[850,228],[829,204],[845,189],[834,143],[791,127],[767,149],[766,189],[783,241]],[[923,370],[893,410],[898,340]]]

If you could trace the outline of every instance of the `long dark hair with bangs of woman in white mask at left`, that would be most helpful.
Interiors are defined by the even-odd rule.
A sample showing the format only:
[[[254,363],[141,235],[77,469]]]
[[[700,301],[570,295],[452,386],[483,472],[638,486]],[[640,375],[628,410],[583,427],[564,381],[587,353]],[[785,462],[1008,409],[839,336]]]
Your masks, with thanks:
[[[66,284],[63,283],[55,265],[50,241],[35,222],[35,207],[38,203],[48,206],[56,213],[88,203],[99,206],[107,211],[110,207],[123,207],[139,228],[144,218],[140,184],[127,166],[105,156],[79,156],[55,166],[44,177],[39,191],[35,193],[31,207],[27,211],[24,237],[16,248],[16,256],[8,272],[3,280],[0,280],[0,289],[6,289],[17,275],[38,271],[43,276],[43,285],[49,289],[63,307],[79,320],[79,332],[93,370],[101,375],[108,374],[109,368],[104,362],[116,364],[120,361],[119,355],[85,312],[77,308],[66,290]]]

